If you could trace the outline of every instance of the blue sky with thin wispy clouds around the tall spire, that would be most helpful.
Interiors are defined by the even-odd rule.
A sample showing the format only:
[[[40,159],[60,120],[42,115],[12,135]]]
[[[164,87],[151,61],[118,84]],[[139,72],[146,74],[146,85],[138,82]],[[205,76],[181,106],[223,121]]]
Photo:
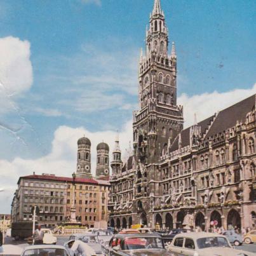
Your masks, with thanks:
[[[256,1],[162,0],[161,5],[176,45],[187,125],[194,109],[202,119],[255,92]],[[0,2],[0,38],[16,38],[29,51],[18,62],[21,74],[32,66],[32,80],[22,82],[19,73],[15,83],[24,87],[14,86],[8,104],[0,104],[0,167],[13,171],[15,159],[25,163],[51,155],[64,126],[78,129],[74,139],[82,131],[97,134],[95,143],[116,130],[131,136],[126,127],[137,108],[138,56],[152,6],[153,0]],[[8,62],[7,53],[4,59]],[[208,107],[205,95],[215,100]],[[75,165],[75,156],[63,158]],[[18,175],[32,172],[30,165],[21,169]]]

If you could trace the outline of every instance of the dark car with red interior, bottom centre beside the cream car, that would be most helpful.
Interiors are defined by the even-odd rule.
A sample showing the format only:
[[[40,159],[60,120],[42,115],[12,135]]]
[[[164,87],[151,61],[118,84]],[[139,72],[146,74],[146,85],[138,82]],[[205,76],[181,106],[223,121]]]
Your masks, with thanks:
[[[171,255],[158,234],[116,234],[109,242],[107,255]]]

